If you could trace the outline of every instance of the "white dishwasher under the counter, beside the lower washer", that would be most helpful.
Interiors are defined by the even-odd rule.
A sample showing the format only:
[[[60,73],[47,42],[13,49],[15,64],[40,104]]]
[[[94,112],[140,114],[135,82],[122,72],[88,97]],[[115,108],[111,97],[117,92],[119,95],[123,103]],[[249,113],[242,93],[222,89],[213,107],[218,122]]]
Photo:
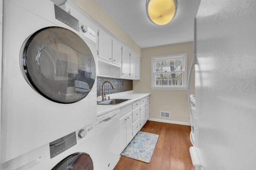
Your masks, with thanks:
[[[97,117],[95,124],[96,170],[112,170],[120,157],[119,116],[120,109]]]

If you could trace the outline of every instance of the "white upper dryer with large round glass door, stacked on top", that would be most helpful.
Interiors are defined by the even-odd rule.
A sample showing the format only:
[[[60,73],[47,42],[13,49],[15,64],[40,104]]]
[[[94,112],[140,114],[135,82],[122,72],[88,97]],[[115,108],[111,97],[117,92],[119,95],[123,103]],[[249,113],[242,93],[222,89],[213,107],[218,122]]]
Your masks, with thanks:
[[[5,0],[1,163],[96,122],[96,40],[50,0]]]

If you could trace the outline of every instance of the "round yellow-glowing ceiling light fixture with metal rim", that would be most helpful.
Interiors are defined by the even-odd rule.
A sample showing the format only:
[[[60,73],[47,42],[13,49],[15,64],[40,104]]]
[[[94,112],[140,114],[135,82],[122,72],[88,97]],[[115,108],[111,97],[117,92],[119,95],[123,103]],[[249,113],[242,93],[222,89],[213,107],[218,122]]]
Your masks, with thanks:
[[[146,11],[154,24],[168,24],[176,14],[177,0],[147,0]]]

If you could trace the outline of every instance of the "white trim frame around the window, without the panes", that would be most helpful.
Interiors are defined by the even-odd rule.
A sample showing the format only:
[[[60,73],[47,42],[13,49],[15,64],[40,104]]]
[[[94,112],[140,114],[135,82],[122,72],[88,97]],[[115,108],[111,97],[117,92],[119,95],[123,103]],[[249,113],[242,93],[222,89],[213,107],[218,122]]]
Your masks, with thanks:
[[[180,58],[184,57],[184,73],[183,73],[183,85],[182,86],[156,86],[154,77],[154,60],[164,59],[168,57]],[[186,90],[187,89],[187,54],[175,54],[175,55],[165,55],[151,58],[151,89],[155,90]]]

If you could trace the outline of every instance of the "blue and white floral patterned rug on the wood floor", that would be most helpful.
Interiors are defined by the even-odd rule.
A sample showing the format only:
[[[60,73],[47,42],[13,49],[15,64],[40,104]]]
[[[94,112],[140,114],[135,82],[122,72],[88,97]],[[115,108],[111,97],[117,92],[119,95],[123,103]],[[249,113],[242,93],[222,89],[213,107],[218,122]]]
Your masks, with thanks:
[[[122,156],[149,163],[152,157],[158,134],[138,132],[121,153]]]

